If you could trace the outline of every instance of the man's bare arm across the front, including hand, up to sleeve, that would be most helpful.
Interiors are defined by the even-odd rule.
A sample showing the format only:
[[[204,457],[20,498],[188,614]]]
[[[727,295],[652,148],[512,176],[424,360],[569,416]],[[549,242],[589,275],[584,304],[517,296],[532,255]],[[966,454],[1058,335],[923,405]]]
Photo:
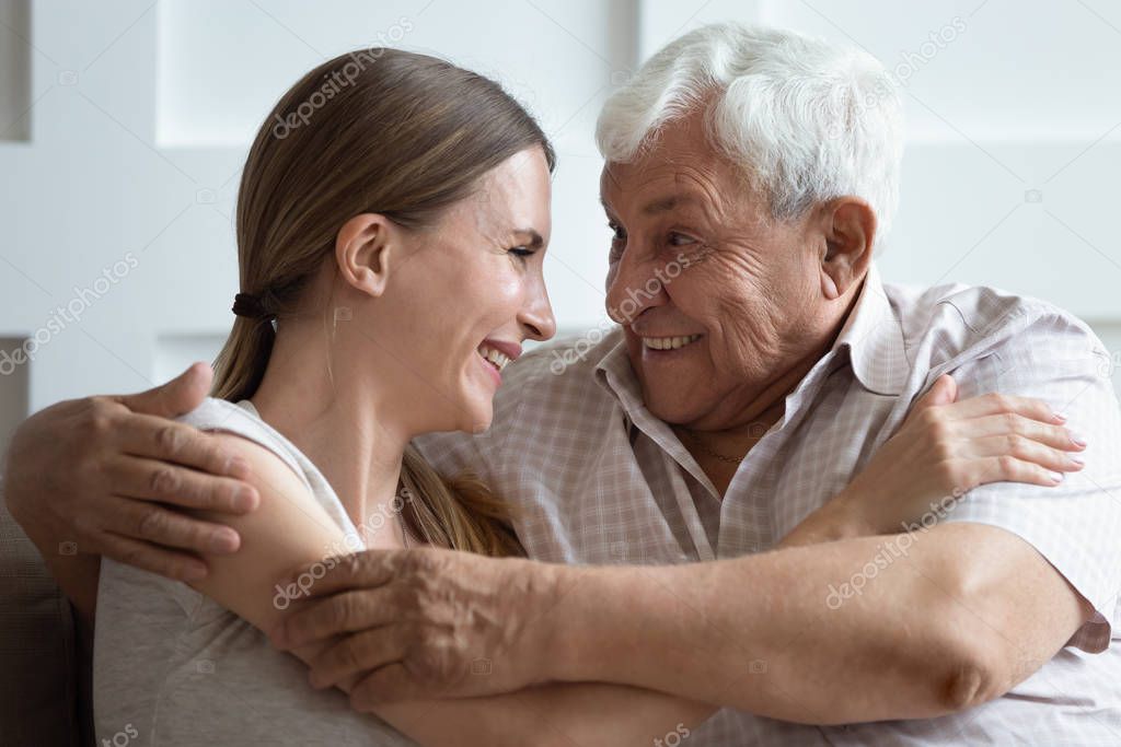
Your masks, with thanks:
[[[274,641],[362,631],[328,638],[311,661],[326,682],[345,678],[359,710],[433,692],[599,681],[822,725],[984,702],[1041,666],[1090,615],[1030,545],[978,524],[669,567],[365,552],[309,594],[321,601],[295,610]],[[407,644],[388,654],[393,625]],[[471,678],[463,653],[492,661],[494,674]],[[390,663],[371,670],[371,661]]]

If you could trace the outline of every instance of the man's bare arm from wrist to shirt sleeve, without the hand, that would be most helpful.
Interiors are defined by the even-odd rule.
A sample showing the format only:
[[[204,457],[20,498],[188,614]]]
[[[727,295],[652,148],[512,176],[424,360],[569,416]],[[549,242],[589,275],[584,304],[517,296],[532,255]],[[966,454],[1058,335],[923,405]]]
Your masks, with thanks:
[[[966,535],[1000,530],[939,531],[686,566],[556,569],[554,674],[810,723],[930,718],[978,704],[1015,684],[1008,660],[1041,665],[1066,638],[1002,633],[1000,572],[962,572]],[[895,554],[905,545],[906,555]],[[1017,545],[1034,553],[997,536],[970,561]],[[847,598],[831,591],[858,585]],[[1071,609],[1067,617],[1077,615]],[[1022,650],[1011,651],[1013,641]]]

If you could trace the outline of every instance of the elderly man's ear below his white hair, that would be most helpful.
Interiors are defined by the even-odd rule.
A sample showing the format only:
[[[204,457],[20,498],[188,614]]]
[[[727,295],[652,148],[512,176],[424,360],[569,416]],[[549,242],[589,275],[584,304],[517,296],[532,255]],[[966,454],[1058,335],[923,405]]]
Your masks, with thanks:
[[[876,213],[859,197],[837,197],[823,206],[821,221],[825,235],[822,293],[836,300],[868,272],[876,239]]]

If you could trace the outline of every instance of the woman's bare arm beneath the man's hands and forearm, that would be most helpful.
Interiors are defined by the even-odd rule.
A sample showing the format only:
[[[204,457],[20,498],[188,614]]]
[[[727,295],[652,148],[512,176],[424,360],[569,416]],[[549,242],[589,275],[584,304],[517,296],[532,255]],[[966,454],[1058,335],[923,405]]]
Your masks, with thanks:
[[[276,456],[248,440],[216,435],[221,446],[250,465],[261,495],[252,514],[232,520],[242,545],[232,555],[206,557],[211,572],[194,588],[262,631],[302,603],[299,586],[277,582],[295,568],[330,563],[345,548],[334,525],[299,478]],[[229,516],[222,517],[231,521]],[[305,588],[317,573],[298,580]],[[326,644],[291,653],[311,662]],[[495,662],[501,665],[501,662]],[[479,670],[476,676],[488,676]],[[339,683],[350,692],[354,679]],[[424,745],[626,745],[683,736],[715,711],[712,706],[627,685],[540,684],[472,699],[428,700],[376,707],[373,711]]]

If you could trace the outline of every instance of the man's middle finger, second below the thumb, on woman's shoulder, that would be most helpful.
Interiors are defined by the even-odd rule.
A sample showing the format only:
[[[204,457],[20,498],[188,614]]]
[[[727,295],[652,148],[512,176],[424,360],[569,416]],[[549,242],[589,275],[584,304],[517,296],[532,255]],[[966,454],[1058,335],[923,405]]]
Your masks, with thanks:
[[[103,469],[115,493],[142,501],[233,514],[249,513],[260,502],[248,483],[167,461],[122,455],[106,460]]]

